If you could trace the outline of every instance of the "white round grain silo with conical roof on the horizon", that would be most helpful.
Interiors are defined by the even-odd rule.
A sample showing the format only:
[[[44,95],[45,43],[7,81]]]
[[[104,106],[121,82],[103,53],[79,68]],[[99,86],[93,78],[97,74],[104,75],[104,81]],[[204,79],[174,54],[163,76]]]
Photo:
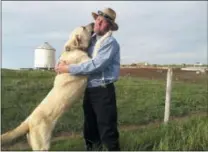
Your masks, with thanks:
[[[45,42],[35,49],[35,65],[36,69],[54,69],[55,67],[55,49]]]

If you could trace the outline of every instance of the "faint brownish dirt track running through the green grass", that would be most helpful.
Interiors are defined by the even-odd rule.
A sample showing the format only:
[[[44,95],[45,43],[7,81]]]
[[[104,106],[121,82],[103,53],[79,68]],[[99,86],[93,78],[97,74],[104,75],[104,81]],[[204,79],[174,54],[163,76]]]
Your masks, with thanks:
[[[190,117],[193,116],[207,116],[208,117],[208,112],[197,112],[197,113],[192,113],[183,117],[170,117],[170,121],[181,121],[181,120],[186,120]],[[159,127],[163,121],[153,121],[145,125],[122,125],[119,127],[120,131],[134,131],[137,129],[141,128],[147,128],[149,126],[152,127]],[[79,138],[82,137],[81,133],[73,133],[73,132],[61,132],[57,135],[55,135],[52,139],[52,143],[60,140],[65,140],[65,139],[70,139],[70,138]],[[26,150],[30,149],[29,145],[26,142],[18,142],[16,144],[10,145],[10,146],[5,146],[2,147],[1,150],[16,150],[16,149],[21,149],[21,150]]]

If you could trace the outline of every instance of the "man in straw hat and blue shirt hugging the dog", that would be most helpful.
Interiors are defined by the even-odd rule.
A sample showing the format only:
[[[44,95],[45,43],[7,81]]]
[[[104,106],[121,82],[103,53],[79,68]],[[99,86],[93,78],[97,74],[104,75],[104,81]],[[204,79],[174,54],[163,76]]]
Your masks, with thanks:
[[[95,19],[94,34],[89,56],[92,57],[96,41],[108,31],[118,30],[115,23],[116,13],[111,8],[92,13]],[[101,143],[109,151],[119,151],[119,132],[117,129],[117,106],[114,82],[120,72],[120,46],[113,36],[104,40],[91,60],[79,65],[56,66],[56,71],[69,72],[73,75],[89,75],[88,85],[84,94],[84,138],[86,150],[92,150]],[[101,150],[101,149],[100,149]]]

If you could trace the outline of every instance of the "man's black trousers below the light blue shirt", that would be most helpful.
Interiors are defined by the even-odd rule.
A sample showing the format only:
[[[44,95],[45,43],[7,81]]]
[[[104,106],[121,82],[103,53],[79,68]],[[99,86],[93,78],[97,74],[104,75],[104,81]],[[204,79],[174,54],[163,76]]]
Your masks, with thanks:
[[[109,151],[119,151],[117,106],[114,84],[87,88],[83,101],[84,139],[87,150],[104,144]],[[100,149],[102,150],[102,149]]]

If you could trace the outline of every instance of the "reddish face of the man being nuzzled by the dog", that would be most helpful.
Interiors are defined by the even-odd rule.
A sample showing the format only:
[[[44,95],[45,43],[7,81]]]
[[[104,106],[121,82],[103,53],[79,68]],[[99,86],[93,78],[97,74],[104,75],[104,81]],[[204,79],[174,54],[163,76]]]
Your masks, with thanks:
[[[103,16],[98,16],[95,20],[94,32],[98,35],[104,35],[109,31],[110,26],[110,23]]]

